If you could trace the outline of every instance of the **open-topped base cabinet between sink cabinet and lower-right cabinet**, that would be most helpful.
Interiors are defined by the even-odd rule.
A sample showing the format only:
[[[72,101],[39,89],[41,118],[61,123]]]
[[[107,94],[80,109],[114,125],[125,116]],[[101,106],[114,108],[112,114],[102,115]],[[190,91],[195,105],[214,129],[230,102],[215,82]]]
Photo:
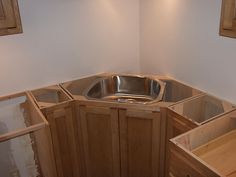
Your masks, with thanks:
[[[234,105],[210,95],[201,95],[168,108],[166,171],[169,167],[169,140],[235,109]]]

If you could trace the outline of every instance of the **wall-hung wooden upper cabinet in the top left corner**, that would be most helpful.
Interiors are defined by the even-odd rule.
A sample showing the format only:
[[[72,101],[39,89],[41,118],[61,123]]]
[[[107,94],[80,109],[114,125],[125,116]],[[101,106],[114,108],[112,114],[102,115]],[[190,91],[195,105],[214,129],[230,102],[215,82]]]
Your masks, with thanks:
[[[17,0],[0,0],[0,35],[21,33]]]

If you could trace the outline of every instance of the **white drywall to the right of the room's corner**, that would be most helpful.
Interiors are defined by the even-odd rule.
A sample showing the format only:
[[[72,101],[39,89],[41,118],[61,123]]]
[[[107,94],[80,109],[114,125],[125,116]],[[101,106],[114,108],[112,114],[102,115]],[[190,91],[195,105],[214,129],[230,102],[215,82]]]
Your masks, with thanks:
[[[236,39],[218,34],[221,0],[140,0],[141,72],[236,103]]]

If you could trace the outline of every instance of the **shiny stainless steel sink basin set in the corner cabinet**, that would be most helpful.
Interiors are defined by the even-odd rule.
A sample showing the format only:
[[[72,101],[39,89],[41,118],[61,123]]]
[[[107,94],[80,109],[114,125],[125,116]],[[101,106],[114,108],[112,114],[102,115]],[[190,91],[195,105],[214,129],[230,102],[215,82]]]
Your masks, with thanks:
[[[165,84],[151,77],[111,75],[93,82],[85,91],[88,99],[125,103],[152,103],[162,99]]]

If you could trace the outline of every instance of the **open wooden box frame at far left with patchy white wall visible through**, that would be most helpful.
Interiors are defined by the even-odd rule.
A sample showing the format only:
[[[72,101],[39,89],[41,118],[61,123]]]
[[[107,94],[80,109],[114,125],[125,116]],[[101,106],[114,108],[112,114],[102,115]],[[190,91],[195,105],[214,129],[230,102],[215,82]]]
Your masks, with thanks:
[[[0,98],[0,176],[56,176],[48,122],[29,96]]]

